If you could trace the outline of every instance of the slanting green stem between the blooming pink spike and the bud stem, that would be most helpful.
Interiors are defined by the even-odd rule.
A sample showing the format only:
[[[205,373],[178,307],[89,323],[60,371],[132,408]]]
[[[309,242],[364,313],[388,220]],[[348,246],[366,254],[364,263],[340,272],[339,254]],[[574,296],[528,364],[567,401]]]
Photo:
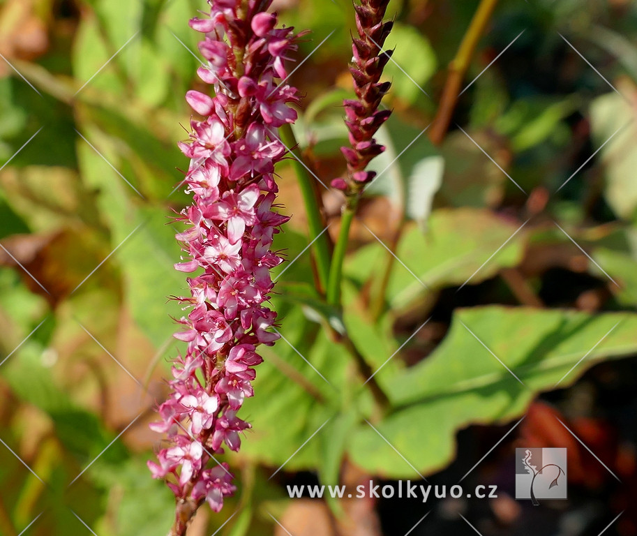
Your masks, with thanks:
[[[313,181],[308,174],[307,164],[303,161],[303,155],[299,150],[299,144],[297,143],[296,137],[294,137],[290,124],[286,123],[280,127],[279,135],[281,141],[287,145],[287,147],[290,147],[290,151],[294,155],[292,157],[292,167],[297,174],[297,181],[299,181],[301,195],[303,195],[303,203],[305,204],[308,226],[310,228],[310,238],[314,241],[312,249],[320,283],[319,290],[323,294],[329,281],[329,262],[331,259],[329,234],[324,232],[326,223],[319,208]]]

